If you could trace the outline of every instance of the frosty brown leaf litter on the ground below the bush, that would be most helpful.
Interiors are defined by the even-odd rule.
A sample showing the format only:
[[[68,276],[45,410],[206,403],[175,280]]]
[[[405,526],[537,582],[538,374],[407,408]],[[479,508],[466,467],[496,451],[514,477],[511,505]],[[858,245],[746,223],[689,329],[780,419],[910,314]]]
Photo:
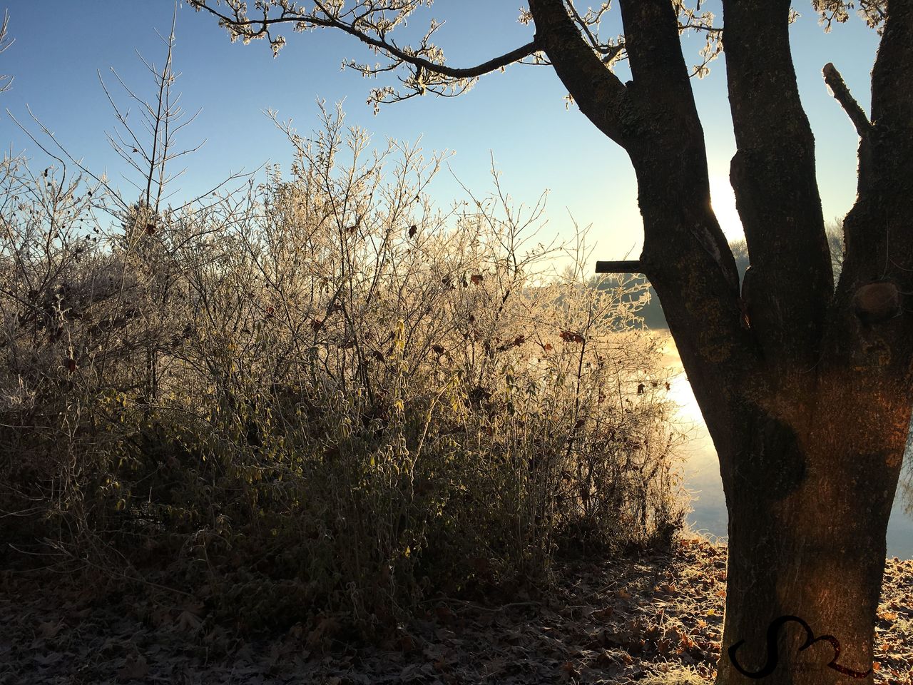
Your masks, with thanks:
[[[205,603],[103,594],[67,576],[0,572],[0,683],[416,685],[709,682],[716,675],[726,547],[567,562],[550,590],[498,603],[439,597],[377,644],[337,617],[252,640]],[[512,597],[514,600],[517,597]],[[876,624],[879,685],[913,685],[913,560],[887,560]]]

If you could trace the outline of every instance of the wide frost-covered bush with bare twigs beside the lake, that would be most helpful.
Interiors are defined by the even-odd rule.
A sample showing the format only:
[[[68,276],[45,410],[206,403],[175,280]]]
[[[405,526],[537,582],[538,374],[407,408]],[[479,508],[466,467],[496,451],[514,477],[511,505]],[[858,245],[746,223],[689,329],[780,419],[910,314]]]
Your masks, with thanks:
[[[537,582],[561,550],[667,540],[677,438],[643,286],[550,275],[541,205],[496,176],[438,211],[442,157],[323,121],[285,127],[288,179],[162,212],[4,160],[16,539],[118,574],[167,559],[245,627],[362,630]]]

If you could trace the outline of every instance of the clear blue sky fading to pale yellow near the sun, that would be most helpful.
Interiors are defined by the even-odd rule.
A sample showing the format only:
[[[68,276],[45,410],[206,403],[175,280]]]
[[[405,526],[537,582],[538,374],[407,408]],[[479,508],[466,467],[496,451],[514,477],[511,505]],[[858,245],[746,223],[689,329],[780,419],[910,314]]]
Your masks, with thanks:
[[[517,21],[519,4],[437,0],[410,22],[425,26],[431,16],[445,20],[437,43],[447,63],[470,66],[530,40],[532,26]],[[719,1],[703,5],[719,10]],[[151,93],[150,75],[136,53],[163,61],[163,44],[154,29],[167,33],[172,0],[0,0],[0,8],[4,6],[16,43],[0,55],[0,73],[13,75],[15,81],[12,90],[0,95],[0,105],[34,131],[26,111],[30,106],[71,153],[116,178],[125,170],[105,140],[105,132],[116,127],[96,72],[107,74],[115,94],[119,90],[110,68],[131,87]],[[857,17],[825,35],[811,2],[795,6],[803,16],[793,26],[792,50],[817,141],[824,216],[843,216],[855,198],[857,140],[829,96],[821,69],[833,61],[868,111],[868,75],[877,36]],[[208,141],[185,160],[187,174],[179,183],[188,195],[268,160],[288,166],[289,144],[264,110],[278,111],[279,119],[290,118],[299,132],[308,133],[318,126],[317,99],[344,99],[347,123],[367,128],[381,144],[388,136],[414,142],[421,135],[426,150],[456,151],[450,166],[477,194],[490,189],[491,154],[503,186],[516,200],[531,204],[549,189],[549,235],[567,236],[570,214],[582,226],[593,225],[593,258],[622,258],[631,248],[636,256],[642,224],[630,163],[579,111],[565,108],[566,91],[551,68],[514,66],[482,79],[460,98],[416,98],[387,105],[374,116],[365,100],[368,90],[380,84],[340,67],[342,58],[376,58],[350,37],[329,31],[289,33],[288,45],[274,59],[266,41],[232,44],[212,16],[187,5],[179,7],[175,33],[174,68],[182,74],[176,89],[183,92],[187,111],[202,109],[185,130],[184,144]],[[702,41],[686,38],[689,62],[698,60]],[[619,75],[627,78],[624,67]],[[694,80],[694,88],[707,138],[714,205],[724,230],[737,237],[740,226],[728,183],[735,143],[722,58],[712,64],[708,78]],[[5,111],[0,113],[0,142],[13,153],[41,159]],[[130,195],[126,184],[121,187]],[[463,198],[447,172],[430,190],[441,204]]]

